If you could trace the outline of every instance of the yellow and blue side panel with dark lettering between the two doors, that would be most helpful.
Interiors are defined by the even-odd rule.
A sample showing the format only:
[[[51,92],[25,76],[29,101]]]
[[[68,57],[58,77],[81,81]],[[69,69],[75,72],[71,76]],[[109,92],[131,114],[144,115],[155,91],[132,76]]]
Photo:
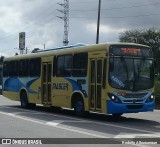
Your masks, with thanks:
[[[84,83],[78,84],[79,80]],[[85,97],[85,110],[88,110],[88,81],[86,77],[53,78],[52,105],[71,108],[71,97],[74,92],[81,93],[82,97]]]

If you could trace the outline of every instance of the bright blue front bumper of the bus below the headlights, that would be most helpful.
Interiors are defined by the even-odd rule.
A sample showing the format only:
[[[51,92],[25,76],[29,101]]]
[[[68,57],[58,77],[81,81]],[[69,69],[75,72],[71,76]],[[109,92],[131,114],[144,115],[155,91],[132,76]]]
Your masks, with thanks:
[[[124,104],[115,103],[113,101],[107,101],[107,114],[117,114],[117,113],[137,113],[146,112],[154,110],[155,100],[148,103],[142,104]]]

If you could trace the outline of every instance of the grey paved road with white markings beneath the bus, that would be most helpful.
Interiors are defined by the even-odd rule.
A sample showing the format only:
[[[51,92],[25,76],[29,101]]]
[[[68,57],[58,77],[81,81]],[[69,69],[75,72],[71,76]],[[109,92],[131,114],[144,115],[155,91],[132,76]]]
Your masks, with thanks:
[[[159,110],[125,114],[119,119],[95,113],[76,117],[72,110],[47,109],[42,106],[22,109],[19,102],[0,96],[0,138],[64,138],[64,142],[65,138],[90,138],[91,142],[105,142],[96,139],[109,138],[109,143],[116,144],[122,141],[132,143],[124,138],[141,137],[160,138]],[[86,140],[74,141],[81,143]]]

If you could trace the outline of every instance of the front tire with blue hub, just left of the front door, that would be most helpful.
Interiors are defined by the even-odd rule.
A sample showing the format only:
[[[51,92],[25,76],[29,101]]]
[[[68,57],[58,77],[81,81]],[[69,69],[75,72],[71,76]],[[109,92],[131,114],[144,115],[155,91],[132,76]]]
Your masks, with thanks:
[[[78,116],[83,116],[85,111],[84,111],[84,102],[81,98],[78,98],[74,101],[73,104],[74,112]]]

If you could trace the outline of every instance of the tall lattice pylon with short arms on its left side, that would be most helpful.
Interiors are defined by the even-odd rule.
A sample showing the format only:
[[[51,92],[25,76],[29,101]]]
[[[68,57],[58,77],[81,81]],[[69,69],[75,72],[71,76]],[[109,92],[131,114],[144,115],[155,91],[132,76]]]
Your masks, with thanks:
[[[68,32],[69,32],[69,0],[64,0],[64,4],[57,3],[58,5],[62,6],[64,9],[63,10],[58,10],[59,12],[63,13],[64,16],[60,17],[57,16],[58,18],[64,20],[64,35],[63,35],[63,45],[67,46],[69,41],[68,41]]]

